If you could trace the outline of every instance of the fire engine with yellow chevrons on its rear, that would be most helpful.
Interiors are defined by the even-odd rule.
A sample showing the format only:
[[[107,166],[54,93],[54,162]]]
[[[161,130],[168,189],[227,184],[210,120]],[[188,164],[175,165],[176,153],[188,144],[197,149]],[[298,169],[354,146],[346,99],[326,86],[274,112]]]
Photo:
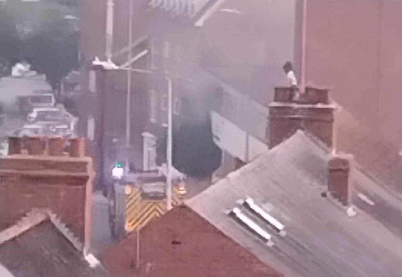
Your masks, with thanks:
[[[150,220],[166,213],[166,166],[152,171],[135,171],[123,162],[115,163],[113,185],[108,190],[111,236],[121,238]],[[183,175],[172,172],[172,206],[186,193]]]

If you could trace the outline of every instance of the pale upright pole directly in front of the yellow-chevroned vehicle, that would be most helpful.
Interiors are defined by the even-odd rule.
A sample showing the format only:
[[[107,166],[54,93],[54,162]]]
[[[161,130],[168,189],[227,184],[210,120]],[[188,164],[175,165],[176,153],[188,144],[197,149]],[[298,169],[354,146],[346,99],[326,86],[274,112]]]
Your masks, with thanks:
[[[168,141],[167,141],[167,190],[166,209],[172,209],[172,79],[166,76],[168,81]]]

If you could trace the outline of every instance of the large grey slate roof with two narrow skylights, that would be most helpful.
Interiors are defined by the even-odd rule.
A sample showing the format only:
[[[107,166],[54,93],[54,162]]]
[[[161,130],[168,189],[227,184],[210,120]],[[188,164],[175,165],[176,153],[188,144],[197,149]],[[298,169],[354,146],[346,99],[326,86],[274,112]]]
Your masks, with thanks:
[[[399,276],[400,199],[357,167],[350,173],[357,214],[348,216],[345,207],[321,195],[329,152],[299,130],[186,204],[285,276]],[[362,200],[367,193],[374,205]],[[272,247],[225,213],[246,196],[285,225],[287,235],[281,237],[240,208],[271,234]]]

